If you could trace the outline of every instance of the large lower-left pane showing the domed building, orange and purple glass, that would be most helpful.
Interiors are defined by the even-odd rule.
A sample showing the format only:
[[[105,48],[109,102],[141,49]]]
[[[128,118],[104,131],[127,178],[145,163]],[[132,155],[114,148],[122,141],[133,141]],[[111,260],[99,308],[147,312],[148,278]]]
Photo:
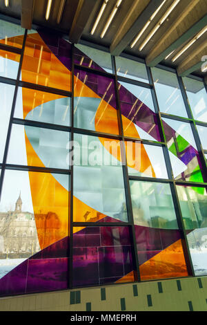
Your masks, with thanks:
[[[62,176],[67,187],[59,181]],[[68,236],[68,184],[68,175],[6,170],[0,203],[0,295],[67,288],[68,258],[61,247]]]

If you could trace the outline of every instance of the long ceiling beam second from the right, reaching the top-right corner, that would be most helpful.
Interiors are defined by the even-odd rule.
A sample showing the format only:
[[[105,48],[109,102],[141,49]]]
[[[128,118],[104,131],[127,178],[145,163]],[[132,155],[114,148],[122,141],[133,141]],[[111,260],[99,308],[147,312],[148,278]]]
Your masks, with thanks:
[[[197,21],[193,26],[190,26],[186,32],[182,32],[179,26],[182,21],[189,15],[189,12],[195,9],[195,6],[199,3],[199,0],[190,1],[186,9],[182,11],[175,21],[172,21],[171,26],[166,30],[164,35],[162,35],[160,41],[157,42],[154,48],[150,51],[146,57],[146,64],[148,66],[157,66],[167,55],[169,55],[173,50],[176,50],[184,44],[188,39],[192,38],[197,34],[202,28],[206,26],[207,13],[206,8],[203,10],[205,15],[199,21]],[[190,19],[186,20],[186,24],[190,22]],[[184,26],[186,26],[186,24]]]

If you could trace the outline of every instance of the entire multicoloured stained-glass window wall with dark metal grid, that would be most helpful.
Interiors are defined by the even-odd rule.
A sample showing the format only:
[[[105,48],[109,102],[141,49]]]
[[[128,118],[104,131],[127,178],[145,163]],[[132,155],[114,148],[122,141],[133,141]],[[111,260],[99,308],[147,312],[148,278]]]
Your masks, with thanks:
[[[204,80],[1,26],[1,297],[206,276]]]

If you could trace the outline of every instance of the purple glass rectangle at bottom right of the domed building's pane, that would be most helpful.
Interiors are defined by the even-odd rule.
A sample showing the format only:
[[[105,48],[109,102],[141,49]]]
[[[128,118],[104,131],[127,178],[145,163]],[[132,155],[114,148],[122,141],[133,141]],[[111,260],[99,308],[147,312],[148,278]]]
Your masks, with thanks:
[[[30,259],[26,293],[68,288],[68,261],[61,259]]]

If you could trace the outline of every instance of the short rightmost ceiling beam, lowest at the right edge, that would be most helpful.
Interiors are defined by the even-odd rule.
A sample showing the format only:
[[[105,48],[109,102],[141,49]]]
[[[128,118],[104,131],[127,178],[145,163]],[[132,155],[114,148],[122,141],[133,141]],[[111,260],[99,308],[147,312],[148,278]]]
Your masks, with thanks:
[[[186,77],[190,73],[193,73],[201,68],[201,65],[204,62],[201,58],[205,55],[207,51],[207,41],[205,40],[202,44],[199,44],[190,55],[187,55],[186,59],[184,59],[181,64],[177,67],[177,73],[181,77]]]

